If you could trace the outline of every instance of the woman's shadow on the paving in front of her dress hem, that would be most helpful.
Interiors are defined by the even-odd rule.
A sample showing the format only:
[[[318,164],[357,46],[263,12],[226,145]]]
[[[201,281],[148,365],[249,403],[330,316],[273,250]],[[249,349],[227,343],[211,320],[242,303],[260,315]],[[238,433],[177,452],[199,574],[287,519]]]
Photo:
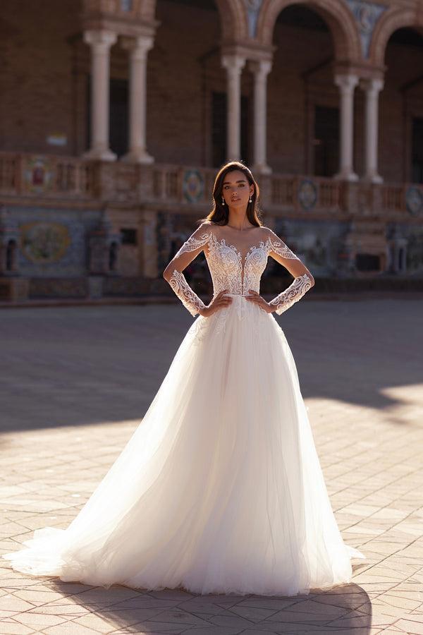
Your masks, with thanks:
[[[69,586],[56,583],[57,591]],[[190,635],[257,635],[258,632],[305,635],[343,632],[366,635],[372,622],[367,593],[357,584],[330,591],[289,597],[259,595],[192,595],[182,590],[137,591],[113,586],[109,590],[71,585],[71,599],[89,610],[83,624],[102,618],[125,633]],[[85,590],[87,589],[87,590]]]

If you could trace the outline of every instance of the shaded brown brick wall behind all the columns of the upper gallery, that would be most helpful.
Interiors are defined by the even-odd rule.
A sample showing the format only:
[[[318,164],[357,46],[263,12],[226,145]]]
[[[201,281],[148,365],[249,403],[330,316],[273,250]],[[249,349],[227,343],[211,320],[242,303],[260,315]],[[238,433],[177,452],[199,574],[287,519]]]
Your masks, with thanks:
[[[0,149],[79,155],[87,139],[90,50],[81,39],[80,2],[13,0],[0,11]],[[157,1],[160,22],[148,57],[147,147],[157,162],[212,162],[212,92],[225,92],[219,14]],[[268,78],[268,162],[274,172],[313,169],[316,105],[338,107],[330,64],[329,32],[277,24],[274,64]],[[321,62],[326,66],[312,72]],[[423,49],[388,44],[385,88],[380,96],[380,172],[386,181],[410,179],[412,116],[423,117]],[[111,76],[128,78],[128,55],[111,49]],[[414,82],[414,83],[413,83]],[[406,90],[402,90],[406,87]],[[243,70],[250,100],[252,75]],[[355,169],[363,172],[364,94],[356,90]],[[252,116],[250,128],[252,125]],[[63,147],[49,135],[67,138]],[[252,133],[250,156],[252,161]],[[132,265],[128,265],[130,267]]]

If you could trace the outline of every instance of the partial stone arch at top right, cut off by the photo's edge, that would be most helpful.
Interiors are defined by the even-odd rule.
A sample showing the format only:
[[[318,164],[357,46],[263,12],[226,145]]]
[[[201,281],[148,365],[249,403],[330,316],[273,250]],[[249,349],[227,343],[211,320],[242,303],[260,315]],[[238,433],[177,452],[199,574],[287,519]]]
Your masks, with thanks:
[[[384,66],[385,52],[388,40],[398,29],[405,27],[421,27],[422,20],[418,20],[414,9],[389,8],[376,22],[370,44],[369,59],[375,66]]]

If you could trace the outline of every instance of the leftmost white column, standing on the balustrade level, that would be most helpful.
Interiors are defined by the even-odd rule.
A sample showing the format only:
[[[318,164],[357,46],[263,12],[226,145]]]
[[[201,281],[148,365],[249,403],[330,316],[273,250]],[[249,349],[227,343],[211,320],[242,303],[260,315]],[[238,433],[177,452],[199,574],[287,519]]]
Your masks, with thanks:
[[[111,31],[84,32],[84,41],[91,47],[91,147],[85,152],[89,159],[116,159],[109,148],[110,47],[116,39]]]

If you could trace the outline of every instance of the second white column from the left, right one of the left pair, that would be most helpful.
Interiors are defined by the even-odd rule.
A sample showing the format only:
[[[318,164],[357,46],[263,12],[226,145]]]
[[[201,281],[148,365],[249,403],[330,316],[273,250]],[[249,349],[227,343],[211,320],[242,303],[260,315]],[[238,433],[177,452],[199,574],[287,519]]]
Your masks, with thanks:
[[[129,49],[129,152],[122,161],[152,163],[147,152],[145,127],[147,113],[147,54],[153,46],[150,36],[134,37],[122,42]]]

